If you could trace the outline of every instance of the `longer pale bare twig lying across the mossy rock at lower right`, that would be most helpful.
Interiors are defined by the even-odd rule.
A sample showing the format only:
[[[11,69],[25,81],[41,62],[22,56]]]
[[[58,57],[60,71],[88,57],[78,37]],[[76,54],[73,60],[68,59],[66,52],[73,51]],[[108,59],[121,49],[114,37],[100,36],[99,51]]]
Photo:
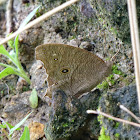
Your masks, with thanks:
[[[134,122],[130,122],[130,121],[127,121],[127,120],[120,119],[120,118],[116,118],[116,117],[113,117],[111,115],[108,115],[108,114],[106,114],[104,112],[101,112],[99,110],[97,110],[97,111],[95,111],[95,110],[87,110],[87,113],[88,114],[103,115],[103,116],[105,116],[107,118],[111,118],[111,119],[113,119],[115,121],[118,121],[118,122],[122,122],[122,123],[130,124],[130,125],[133,125],[133,126],[136,126],[136,127],[140,127],[140,124],[138,124],[138,123],[134,123]]]

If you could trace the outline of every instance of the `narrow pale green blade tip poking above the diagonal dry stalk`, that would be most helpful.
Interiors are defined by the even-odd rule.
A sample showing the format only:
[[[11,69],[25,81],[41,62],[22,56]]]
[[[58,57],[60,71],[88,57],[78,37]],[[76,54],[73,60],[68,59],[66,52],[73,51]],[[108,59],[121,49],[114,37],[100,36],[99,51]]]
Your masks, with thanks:
[[[40,6],[38,6],[37,8],[35,8],[25,19],[24,21],[21,23],[19,29],[23,28],[30,20],[31,18],[35,15],[35,13],[37,12],[37,10],[39,9]]]

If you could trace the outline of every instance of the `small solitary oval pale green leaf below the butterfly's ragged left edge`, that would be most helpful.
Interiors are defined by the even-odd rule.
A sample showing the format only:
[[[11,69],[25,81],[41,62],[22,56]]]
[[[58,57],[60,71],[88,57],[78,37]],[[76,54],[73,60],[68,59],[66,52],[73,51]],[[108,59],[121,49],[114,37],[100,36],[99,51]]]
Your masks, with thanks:
[[[35,89],[32,90],[31,95],[29,97],[30,106],[32,108],[36,108],[38,106],[38,96],[37,91]]]

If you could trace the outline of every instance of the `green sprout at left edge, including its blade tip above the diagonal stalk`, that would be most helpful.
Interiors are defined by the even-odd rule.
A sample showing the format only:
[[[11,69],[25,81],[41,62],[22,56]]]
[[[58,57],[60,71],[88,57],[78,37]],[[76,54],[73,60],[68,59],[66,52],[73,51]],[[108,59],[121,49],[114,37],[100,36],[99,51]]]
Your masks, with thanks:
[[[23,28],[31,20],[31,18],[36,14],[39,7],[40,6],[35,8],[25,18],[25,20],[20,25],[19,29]],[[22,65],[19,61],[19,58],[18,58],[18,54],[19,54],[19,52],[18,52],[18,44],[19,44],[18,38],[19,38],[19,35],[15,37],[14,41],[13,40],[8,41],[8,45],[12,49],[10,52],[8,52],[3,45],[0,45],[0,54],[6,56],[14,64],[14,66],[13,66],[13,65],[0,63],[1,66],[5,67],[5,69],[0,72],[0,79],[4,78],[10,74],[15,74],[15,75],[18,75],[18,76],[24,78],[26,80],[26,82],[30,84],[31,81],[30,81],[29,77],[27,76],[26,72],[23,70],[23,67],[22,67]]]

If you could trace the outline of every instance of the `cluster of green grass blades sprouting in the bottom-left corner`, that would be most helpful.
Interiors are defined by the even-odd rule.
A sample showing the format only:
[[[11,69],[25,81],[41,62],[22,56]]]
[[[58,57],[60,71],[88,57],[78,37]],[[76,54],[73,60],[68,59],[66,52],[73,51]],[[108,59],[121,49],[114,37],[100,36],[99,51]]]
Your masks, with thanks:
[[[12,140],[13,132],[15,130],[20,130],[21,129],[19,127],[27,120],[27,118],[30,116],[31,113],[29,113],[23,120],[21,120],[15,126],[12,126],[9,123],[5,123],[4,120],[2,118],[0,118],[0,120],[2,121],[2,124],[0,124],[0,129],[4,129],[5,130],[7,128],[8,131],[9,131],[9,133],[6,130],[4,131],[4,133],[5,133],[6,137],[8,138],[8,140]],[[22,136],[20,137],[20,140],[30,140],[30,133],[29,133],[29,129],[28,129],[27,126],[25,126],[25,128],[24,128],[24,131],[22,133]]]

